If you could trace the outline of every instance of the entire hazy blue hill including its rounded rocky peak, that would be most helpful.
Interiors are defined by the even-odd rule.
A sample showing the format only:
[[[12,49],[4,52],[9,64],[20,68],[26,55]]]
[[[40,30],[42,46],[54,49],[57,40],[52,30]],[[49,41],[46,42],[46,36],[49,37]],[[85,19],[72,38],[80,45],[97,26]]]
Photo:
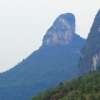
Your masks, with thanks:
[[[0,100],[29,100],[40,91],[77,77],[77,62],[84,43],[75,33],[74,15],[60,15],[37,51],[0,74]]]

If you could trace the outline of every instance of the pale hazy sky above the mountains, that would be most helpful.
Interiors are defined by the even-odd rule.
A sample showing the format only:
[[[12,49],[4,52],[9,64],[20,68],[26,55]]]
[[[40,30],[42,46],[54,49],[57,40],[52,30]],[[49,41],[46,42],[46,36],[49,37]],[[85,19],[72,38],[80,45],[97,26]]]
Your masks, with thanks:
[[[76,17],[76,33],[86,38],[100,0],[0,0],[0,72],[21,62],[41,44],[63,13]]]

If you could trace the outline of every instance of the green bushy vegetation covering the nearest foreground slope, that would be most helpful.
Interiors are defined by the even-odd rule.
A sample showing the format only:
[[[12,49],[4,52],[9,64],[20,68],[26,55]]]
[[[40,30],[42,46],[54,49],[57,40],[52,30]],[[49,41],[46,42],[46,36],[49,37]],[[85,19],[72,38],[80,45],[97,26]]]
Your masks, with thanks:
[[[100,71],[60,82],[56,88],[41,92],[32,100],[100,100]]]

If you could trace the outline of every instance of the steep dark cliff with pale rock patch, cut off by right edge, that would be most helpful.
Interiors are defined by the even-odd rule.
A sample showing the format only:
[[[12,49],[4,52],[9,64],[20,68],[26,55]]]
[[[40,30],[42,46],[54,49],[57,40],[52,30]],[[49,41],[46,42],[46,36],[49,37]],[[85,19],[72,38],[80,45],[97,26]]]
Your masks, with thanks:
[[[80,74],[96,70],[100,65],[100,10],[95,16],[85,46],[79,60]]]

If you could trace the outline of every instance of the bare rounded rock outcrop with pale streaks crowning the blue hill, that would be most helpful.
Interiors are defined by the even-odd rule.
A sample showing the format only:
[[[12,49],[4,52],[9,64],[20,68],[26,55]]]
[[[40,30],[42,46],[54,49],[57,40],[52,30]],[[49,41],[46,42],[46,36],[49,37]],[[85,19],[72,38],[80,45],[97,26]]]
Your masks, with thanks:
[[[71,13],[60,15],[48,29],[43,44],[54,46],[69,44],[75,34],[75,17]]]

